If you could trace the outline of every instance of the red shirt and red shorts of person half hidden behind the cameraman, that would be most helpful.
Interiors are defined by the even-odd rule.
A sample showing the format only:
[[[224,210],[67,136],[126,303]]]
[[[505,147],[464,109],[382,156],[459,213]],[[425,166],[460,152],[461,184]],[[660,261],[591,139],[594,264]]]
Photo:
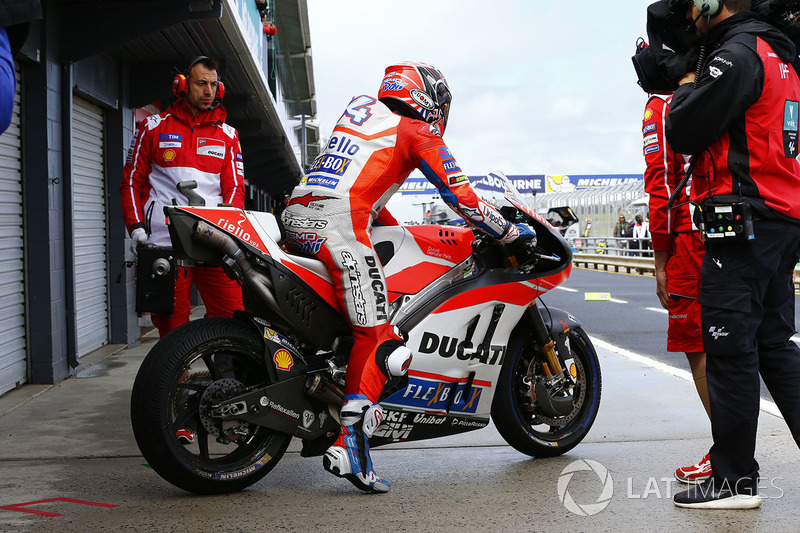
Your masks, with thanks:
[[[671,96],[653,95],[647,101],[642,121],[644,136],[644,189],[650,195],[650,234],[653,250],[669,252],[667,292],[669,325],[667,350],[702,352],[700,332],[700,265],[705,247],[700,232],[692,224],[692,206],[688,203],[691,181],[681,191],[672,209],[667,201],[683,179],[689,157],[675,152],[667,144],[664,123]],[[682,205],[681,205],[682,204]]]

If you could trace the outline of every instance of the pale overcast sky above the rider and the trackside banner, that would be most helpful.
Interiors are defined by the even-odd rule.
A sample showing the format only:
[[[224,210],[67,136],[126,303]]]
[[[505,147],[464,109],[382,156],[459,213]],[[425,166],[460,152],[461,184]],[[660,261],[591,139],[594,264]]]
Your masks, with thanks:
[[[416,60],[447,78],[444,139],[465,173],[641,173],[630,58],[650,3],[308,0],[320,134],[386,66]]]

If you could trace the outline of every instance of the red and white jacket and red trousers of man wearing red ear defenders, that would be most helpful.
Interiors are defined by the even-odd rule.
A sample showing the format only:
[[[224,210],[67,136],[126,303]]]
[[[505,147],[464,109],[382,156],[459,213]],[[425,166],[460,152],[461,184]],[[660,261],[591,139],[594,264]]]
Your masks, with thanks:
[[[178,192],[181,181],[195,180],[195,192],[206,205],[244,207],[244,163],[239,135],[225,123],[227,113],[217,106],[192,117],[184,99],[139,124],[120,184],[122,216],[129,232],[144,228],[147,243],[171,246],[164,206],[172,199],[187,205]],[[242,309],[242,291],[215,266],[176,269],[172,314],[154,313],[161,336],[188,322],[192,282],[197,284],[207,316],[231,316]]]

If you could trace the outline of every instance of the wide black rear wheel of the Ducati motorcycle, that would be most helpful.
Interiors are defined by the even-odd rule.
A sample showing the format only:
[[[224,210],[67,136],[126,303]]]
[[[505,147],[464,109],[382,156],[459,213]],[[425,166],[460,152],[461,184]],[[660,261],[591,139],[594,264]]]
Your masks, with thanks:
[[[204,318],[161,339],[131,395],[136,443],[161,477],[197,494],[236,492],[266,476],[291,435],[230,418],[213,405],[269,384],[258,332],[239,320]]]

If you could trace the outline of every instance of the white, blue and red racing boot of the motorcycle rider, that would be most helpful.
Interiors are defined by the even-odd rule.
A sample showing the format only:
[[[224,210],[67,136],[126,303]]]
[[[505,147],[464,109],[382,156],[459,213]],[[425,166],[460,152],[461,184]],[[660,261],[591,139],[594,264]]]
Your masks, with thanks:
[[[325,452],[322,465],[328,472],[346,478],[367,492],[389,492],[389,482],[378,477],[369,456],[369,438],[383,422],[383,409],[363,394],[345,397],[341,431]]]

